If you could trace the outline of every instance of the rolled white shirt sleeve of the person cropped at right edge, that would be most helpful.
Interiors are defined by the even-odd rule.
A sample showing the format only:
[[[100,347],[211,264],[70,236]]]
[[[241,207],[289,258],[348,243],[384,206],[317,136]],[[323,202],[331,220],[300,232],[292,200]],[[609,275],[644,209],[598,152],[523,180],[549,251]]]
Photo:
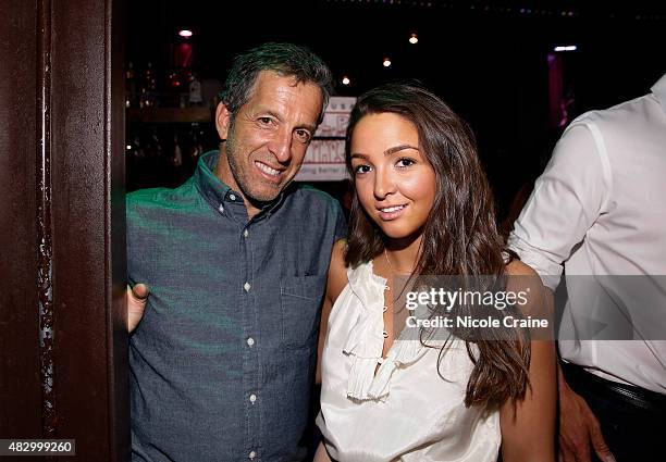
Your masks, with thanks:
[[[508,247],[555,290],[563,263],[605,208],[610,168],[596,125],[571,125],[522,209]]]

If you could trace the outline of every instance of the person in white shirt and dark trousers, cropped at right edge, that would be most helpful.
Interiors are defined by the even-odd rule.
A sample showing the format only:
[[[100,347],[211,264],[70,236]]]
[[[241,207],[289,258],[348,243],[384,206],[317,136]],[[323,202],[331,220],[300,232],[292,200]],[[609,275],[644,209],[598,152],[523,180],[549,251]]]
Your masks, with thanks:
[[[571,123],[509,237],[552,290],[563,265],[567,275],[560,461],[663,457],[665,175],[666,75],[651,93]]]

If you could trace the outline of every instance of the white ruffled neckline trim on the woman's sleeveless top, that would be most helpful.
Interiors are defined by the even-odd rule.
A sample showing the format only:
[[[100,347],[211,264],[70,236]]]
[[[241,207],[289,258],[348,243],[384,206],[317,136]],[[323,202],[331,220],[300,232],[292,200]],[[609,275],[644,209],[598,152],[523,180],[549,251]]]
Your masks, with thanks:
[[[419,329],[405,327],[393,341],[386,358],[382,358],[387,282],[374,273],[372,261],[347,269],[347,279],[349,289],[360,302],[358,317],[343,348],[351,359],[347,397],[357,401],[384,401],[391,392],[393,374],[414,364],[427,350],[420,341]]]

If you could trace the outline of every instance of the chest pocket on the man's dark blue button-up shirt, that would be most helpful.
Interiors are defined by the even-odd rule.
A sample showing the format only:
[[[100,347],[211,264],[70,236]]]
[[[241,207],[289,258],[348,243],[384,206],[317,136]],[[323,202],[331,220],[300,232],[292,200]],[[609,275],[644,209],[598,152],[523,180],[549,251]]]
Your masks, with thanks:
[[[280,282],[283,347],[303,349],[314,345],[325,284],[325,275],[284,277]]]

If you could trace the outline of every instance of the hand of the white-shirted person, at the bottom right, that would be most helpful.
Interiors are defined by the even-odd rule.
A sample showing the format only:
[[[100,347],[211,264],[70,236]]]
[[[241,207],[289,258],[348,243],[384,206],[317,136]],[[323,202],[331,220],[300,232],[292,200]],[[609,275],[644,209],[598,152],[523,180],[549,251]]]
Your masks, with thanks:
[[[584,399],[559,376],[559,462],[590,462],[590,444],[604,462],[615,462],[599,425]]]

